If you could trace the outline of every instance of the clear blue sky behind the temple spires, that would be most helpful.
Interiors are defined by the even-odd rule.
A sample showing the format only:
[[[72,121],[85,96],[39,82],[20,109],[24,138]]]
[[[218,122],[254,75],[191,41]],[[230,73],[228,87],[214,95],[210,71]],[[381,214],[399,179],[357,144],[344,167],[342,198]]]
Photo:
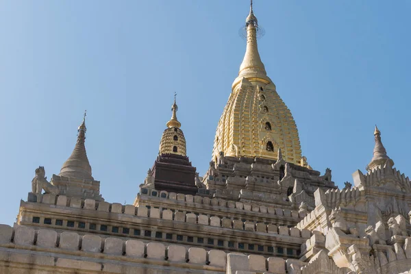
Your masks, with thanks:
[[[262,61],[303,155],[338,185],[369,163],[373,127],[411,175],[411,2],[255,1]],[[201,175],[245,52],[247,0],[1,1],[3,208],[12,224],[37,166],[58,174],[87,110],[86,147],[109,202],[132,203],[177,92]]]

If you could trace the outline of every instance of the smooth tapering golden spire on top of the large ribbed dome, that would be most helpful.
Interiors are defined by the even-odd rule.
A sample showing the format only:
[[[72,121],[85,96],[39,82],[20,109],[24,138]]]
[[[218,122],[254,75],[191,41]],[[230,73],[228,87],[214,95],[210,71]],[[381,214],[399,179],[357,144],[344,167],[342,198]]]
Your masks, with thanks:
[[[261,61],[260,53],[257,46],[258,20],[253,12],[253,1],[251,0],[250,12],[245,20],[245,28],[247,30],[247,49],[244,59],[240,65],[238,77],[234,84],[240,82],[242,77],[249,81],[260,81],[264,84],[269,84],[271,79],[267,76],[264,64]]]

